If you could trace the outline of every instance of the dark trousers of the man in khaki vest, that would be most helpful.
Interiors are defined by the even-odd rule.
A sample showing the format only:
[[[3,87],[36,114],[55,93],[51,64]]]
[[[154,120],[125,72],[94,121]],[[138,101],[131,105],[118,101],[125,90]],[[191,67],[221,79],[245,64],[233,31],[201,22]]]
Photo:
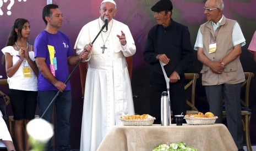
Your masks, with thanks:
[[[210,112],[213,112],[218,117],[216,123],[222,123],[222,97],[224,96],[227,128],[230,131],[237,148],[243,148],[243,129],[240,103],[241,83],[209,85],[205,86],[205,91],[209,102]]]

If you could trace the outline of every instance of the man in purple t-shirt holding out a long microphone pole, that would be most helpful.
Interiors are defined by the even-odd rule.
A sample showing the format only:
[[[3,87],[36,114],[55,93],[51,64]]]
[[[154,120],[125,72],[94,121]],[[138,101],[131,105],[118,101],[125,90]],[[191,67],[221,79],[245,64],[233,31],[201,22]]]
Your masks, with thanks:
[[[62,13],[58,5],[48,4],[42,11],[43,21],[46,28],[35,39],[35,59],[39,68],[38,96],[40,117],[52,101],[58,91],[55,101],[57,114],[57,137],[58,150],[70,150],[69,146],[69,115],[71,109],[70,83],[65,84],[69,75],[68,65],[75,65],[80,59],[85,60],[89,54],[83,51],[79,56],[73,56],[73,47],[68,36],[58,28],[62,26]],[[51,123],[52,106],[42,117]],[[47,150],[54,150],[51,141],[48,142]]]

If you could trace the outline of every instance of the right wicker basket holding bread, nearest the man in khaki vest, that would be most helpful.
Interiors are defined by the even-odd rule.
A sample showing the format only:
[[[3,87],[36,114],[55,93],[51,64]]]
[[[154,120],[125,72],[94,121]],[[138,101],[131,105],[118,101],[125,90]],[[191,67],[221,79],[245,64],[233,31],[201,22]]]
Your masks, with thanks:
[[[213,118],[194,118],[194,117],[184,117],[188,125],[210,125],[214,124],[218,117]]]

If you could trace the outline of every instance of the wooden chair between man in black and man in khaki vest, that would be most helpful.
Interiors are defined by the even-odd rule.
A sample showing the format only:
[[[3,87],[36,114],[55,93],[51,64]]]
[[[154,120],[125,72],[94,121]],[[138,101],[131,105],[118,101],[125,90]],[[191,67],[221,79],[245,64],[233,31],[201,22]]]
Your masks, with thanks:
[[[198,73],[185,73],[186,85],[184,89],[187,94],[187,113],[186,114],[198,114],[198,109],[195,107],[195,85],[197,84],[197,79],[199,78]],[[171,111],[171,116],[173,116]]]

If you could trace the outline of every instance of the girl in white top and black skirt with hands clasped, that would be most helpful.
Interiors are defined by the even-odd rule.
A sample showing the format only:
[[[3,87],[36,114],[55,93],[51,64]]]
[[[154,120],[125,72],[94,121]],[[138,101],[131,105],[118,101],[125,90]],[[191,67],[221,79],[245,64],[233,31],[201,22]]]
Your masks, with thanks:
[[[14,138],[18,150],[30,149],[25,126],[34,119],[37,104],[38,69],[35,64],[34,48],[28,43],[29,34],[29,21],[16,19],[6,47],[2,49],[2,63],[6,65],[9,97],[14,115]]]

